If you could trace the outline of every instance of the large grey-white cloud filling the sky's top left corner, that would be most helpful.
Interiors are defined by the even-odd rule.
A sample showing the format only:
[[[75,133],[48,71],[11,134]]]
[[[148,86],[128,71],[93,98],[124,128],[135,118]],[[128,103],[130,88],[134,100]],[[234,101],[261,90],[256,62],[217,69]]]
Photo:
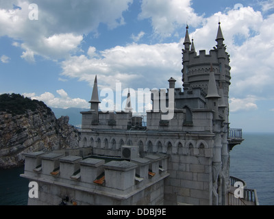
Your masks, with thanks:
[[[0,2],[0,36],[14,38],[14,46],[24,50],[21,57],[34,62],[35,55],[53,60],[66,58],[79,50],[84,34],[97,32],[100,23],[110,29],[123,25],[123,12],[132,0],[37,0],[38,21],[29,20],[27,0]],[[21,10],[13,9],[12,4]]]

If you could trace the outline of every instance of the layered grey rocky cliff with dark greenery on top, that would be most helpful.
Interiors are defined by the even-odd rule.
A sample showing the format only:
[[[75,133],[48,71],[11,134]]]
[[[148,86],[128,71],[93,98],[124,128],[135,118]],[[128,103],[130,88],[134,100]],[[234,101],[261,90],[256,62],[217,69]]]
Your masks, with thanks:
[[[69,117],[55,118],[42,101],[0,95],[0,168],[21,166],[23,153],[75,149],[79,133]]]

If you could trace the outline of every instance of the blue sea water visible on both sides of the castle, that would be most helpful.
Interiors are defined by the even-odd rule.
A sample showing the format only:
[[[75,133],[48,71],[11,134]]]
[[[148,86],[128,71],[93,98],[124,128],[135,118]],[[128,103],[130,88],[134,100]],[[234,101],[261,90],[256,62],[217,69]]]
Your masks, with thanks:
[[[243,133],[245,140],[230,151],[230,175],[256,189],[260,205],[274,205],[274,133]],[[24,167],[0,170],[0,205],[27,205]]]

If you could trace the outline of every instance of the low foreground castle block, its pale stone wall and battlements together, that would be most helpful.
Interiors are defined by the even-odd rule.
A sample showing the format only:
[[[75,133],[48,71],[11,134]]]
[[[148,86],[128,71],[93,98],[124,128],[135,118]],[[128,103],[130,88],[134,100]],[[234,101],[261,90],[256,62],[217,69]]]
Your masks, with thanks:
[[[168,158],[169,155],[147,155],[105,162],[35,152],[25,154],[21,177],[36,181],[42,188],[38,198],[29,198],[29,205],[59,205],[64,196],[78,205],[161,205],[164,179],[169,176]]]

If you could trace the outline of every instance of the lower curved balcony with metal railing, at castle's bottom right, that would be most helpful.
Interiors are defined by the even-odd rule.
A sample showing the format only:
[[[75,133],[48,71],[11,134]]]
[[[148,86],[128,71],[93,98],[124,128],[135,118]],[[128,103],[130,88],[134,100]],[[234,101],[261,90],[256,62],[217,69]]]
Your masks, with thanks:
[[[231,187],[227,194],[227,205],[259,205],[258,196],[256,190],[246,188],[247,184],[242,179],[236,177],[229,177]],[[234,191],[237,189],[234,187],[236,182],[242,183],[243,197],[236,198]]]

